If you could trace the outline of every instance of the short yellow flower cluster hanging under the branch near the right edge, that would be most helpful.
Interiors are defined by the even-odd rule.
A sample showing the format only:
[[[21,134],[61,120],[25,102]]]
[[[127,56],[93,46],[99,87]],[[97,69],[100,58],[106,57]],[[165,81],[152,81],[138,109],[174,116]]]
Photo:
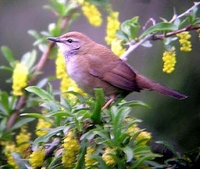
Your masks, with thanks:
[[[179,37],[179,43],[181,45],[180,50],[183,52],[190,52],[192,50],[192,44],[189,41],[189,39],[191,38],[189,32],[181,32],[176,36]]]

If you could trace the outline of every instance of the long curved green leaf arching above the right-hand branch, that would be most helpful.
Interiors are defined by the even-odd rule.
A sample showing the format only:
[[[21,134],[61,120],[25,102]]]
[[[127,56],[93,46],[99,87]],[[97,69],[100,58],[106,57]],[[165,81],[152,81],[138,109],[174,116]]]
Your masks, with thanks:
[[[149,27],[146,31],[144,31],[139,39],[144,38],[145,36],[152,34],[152,33],[157,33],[157,32],[162,32],[162,31],[175,31],[177,30],[178,27],[172,23],[167,23],[167,22],[161,22],[156,25],[153,25]]]

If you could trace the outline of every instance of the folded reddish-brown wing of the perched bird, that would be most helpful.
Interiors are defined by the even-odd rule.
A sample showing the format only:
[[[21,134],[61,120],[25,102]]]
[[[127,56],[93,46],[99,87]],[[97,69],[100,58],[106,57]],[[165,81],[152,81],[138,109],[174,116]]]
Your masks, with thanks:
[[[90,74],[126,91],[140,91],[136,83],[136,73],[121,59],[111,63],[93,65]]]

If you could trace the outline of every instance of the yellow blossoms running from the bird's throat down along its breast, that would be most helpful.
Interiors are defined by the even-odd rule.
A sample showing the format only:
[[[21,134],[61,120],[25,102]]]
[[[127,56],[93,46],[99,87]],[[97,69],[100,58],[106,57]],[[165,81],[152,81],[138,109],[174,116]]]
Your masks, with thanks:
[[[67,91],[74,91],[82,95],[85,95],[85,93],[77,86],[75,81],[72,80],[67,74],[65,59],[60,50],[58,50],[56,58],[56,77],[58,79],[61,79],[60,91],[62,93]],[[63,94],[63,96],[67,97],[72,102],[75,100],[75,96],[72,94]]]

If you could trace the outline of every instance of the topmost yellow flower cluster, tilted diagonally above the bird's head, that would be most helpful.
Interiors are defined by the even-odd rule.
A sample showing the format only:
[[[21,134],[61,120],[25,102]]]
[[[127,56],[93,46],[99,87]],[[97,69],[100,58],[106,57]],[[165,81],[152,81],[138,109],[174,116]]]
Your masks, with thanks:
[[[91,25],[97,27],[101,26],[102,16],[95,5],[89,2],[83,2],[82,11]]]

